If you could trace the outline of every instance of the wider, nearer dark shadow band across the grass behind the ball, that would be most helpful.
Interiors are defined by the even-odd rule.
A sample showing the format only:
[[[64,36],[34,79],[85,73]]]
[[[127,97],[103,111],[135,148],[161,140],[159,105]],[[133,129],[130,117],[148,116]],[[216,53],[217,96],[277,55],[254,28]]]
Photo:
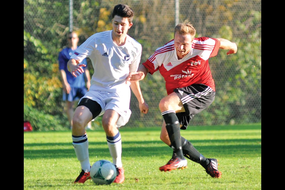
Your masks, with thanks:
[[[195,148],[206,157],[216,155],[243,155],[244,157],[256,157],[258,155],[261,156],[261,139],[194,140],[191,141],[191,143],[194,146],[195,144],[199,143],[209,144],[195,146]],[[43,146],[52,149],[33,150],[33,146]],[[26,143],[24,144],[24,147],[29,147],[28,150],[24,150],[24,159],[55,159],[75,157],[75,152],[72,148],[72,143]],[[172,153],[172,149],[161,141],[122,142],[122,149],[123,157],[149,157],[170,155]],[[90,157],[109,157],[110,153],[107,146],[107,142],[90,142],[89,154]]]

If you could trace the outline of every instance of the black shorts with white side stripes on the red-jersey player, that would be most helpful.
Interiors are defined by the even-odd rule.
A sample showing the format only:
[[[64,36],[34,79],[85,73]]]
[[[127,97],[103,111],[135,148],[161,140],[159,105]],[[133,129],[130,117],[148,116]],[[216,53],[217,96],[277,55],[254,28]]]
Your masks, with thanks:
[[[195,114],[206,109],[215,99],[216,92],[207,85],[193,84],[183,88],[176,88],[174,92],[179,96],[185,112],[176,113],[181,129],[187,129],[189,121]]]

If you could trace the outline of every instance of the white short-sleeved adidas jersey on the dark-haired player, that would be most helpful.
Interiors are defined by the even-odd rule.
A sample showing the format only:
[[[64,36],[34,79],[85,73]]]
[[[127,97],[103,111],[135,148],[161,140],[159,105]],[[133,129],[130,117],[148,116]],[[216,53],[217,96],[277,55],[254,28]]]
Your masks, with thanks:
[[[80,45],[71,58],[79,63],[86,57],[91,59],[94,74],[90,90],[116,92],[126,89],[129,72],[136,72],[140,64],[142,46],[126,37],[123,46],[117,46],[112,39],[112,30],[99,32]]]

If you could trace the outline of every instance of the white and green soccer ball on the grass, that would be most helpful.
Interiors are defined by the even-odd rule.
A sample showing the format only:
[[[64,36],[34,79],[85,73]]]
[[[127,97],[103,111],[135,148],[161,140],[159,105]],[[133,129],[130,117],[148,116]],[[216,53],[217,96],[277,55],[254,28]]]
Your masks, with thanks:
[[[92,165],[90,176],[97,185],[110,185],[117,176],[117,170],[112,162],[99,160]]]

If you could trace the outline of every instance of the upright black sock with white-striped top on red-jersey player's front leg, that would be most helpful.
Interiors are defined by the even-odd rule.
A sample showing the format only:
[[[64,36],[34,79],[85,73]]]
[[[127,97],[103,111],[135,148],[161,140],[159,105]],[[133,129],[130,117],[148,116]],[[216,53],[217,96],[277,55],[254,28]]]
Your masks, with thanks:
[[[164,111],[161,113],[166,124],[166,130],[173,149],[173,156],[184,158],[180,139],[179,121],[174,111]]]

